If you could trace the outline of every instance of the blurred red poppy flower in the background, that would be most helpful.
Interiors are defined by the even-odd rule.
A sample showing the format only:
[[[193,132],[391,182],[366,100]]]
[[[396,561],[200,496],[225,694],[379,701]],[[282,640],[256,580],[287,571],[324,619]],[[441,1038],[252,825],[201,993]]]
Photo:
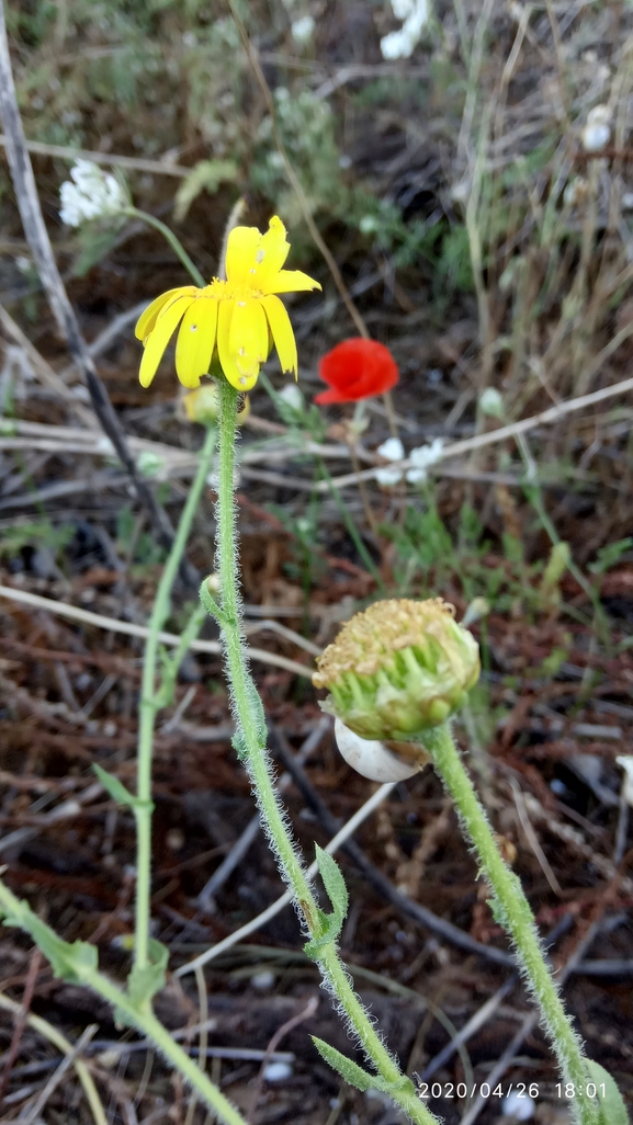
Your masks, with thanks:
[[[377,340],[353,336],[323,356],[319,375],[329,390],[322,390],[315,403],[357,403],[391,390],[400,378],[398,364],[389,348]]]

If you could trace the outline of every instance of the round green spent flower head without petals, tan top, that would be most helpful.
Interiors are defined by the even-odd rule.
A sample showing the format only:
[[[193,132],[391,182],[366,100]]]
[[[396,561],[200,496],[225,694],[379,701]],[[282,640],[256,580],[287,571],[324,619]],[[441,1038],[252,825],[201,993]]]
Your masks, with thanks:
[[[318,658],[322,703],[362,738],[413,741],[462,706],[481,670],[474,637],[440,597],[375,602]]]

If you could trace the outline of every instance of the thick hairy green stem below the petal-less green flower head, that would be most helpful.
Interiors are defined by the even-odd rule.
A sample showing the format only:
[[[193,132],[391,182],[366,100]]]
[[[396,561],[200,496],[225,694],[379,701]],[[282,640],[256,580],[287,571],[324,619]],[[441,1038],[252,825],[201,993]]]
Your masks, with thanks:
[[[496,916],[512,938],[526,983],[541,1007],[543,1025],[552,1041],[564,1081],[573,1082],[577,1095],[570,1106],[574,1120],[580,1125],[598,1125],[599,1109],[595,1100],[583,1092],[590,1079],[582,1045],[547,968],[532,908],[519,880],[499,854],[451,728],[445,723],[425,731],[421,741],[431,755],[434,765],[455,802],[462,825],[474,844],[482,872],[492,891]]]

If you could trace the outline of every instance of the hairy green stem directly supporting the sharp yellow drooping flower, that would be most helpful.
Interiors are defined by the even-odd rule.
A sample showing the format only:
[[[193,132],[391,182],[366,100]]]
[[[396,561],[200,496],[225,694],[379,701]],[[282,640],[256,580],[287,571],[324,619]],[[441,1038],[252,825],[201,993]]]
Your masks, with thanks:
[[[238,393],[228,384],[220,384],[220,456],[217,490],[217,557],[222,605],[216,612],[213,600],[205,592],[204,603],[215,613],[223,632],[226,668],[232,688],[232,704],[237,721],[234,746],[249,773],[257,794],[264,827],[276,854],[283,878],[292,890],[312,938],[320,937],[319,907],[307,875],[286,827],[284,811],[270,772],[266,741],[267,730],[261,701],[247,667],[242,632],[242,606],[238,586],[239,564],[235,542],[235,508],[233,497],[233,466]],[[392,1084],[392,1096],[411,1120],[431,1125],[436,1118],[416,1095],[412,1083],[402,1072],[356,996],[341,963],[336,944],[329,942],[318,951],[318,960],[329,987],[336,997],[349,1027],[362,1043],[380,1076]],[[400,1088],[398,1088],[400,1087]]]

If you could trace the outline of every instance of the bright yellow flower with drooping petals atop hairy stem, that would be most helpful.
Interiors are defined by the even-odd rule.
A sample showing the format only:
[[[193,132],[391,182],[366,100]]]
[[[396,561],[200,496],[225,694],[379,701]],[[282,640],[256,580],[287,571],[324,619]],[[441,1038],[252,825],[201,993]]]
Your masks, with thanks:
[[[225,281],[214,278],[203,289],[188,285],[157,297],[135,328],[144,348],[141,386],[150,386],[179,324],[176,372],[185,387],[199,387],[217,349],[220,366],[231,386],[250,390],[273,343],[283,371],[292,371],[296,379],[296,342],[288,314],[276,294],[321,286],[300,270],[282,269],[289,249],[286,228],[276,215],[266,234],[255,226],[235,226],[226,245]]]

